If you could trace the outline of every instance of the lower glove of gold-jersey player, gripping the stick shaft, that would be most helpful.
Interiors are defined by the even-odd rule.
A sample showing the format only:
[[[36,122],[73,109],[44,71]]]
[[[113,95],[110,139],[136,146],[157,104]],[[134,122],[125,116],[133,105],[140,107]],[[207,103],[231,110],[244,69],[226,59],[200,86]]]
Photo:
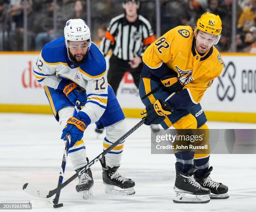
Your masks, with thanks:
[[[145,118],[146,125],[161,124],[166,115],[172,114],[172,111],[173,108],[171,106],[168,106],[163,100],[159,99],[154,104],[146,106],[141,115],[147,114]]]

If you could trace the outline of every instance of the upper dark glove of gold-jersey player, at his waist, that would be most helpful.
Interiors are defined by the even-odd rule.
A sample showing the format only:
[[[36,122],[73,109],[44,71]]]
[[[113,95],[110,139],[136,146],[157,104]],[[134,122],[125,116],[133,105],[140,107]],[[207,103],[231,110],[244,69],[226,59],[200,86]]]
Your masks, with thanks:
[[[182,84],[179,82],[177,76],[170,75],[161,78],[161,83],[164,84],[166,90],[172,94],[174,92],[179,92],[183,89]]]

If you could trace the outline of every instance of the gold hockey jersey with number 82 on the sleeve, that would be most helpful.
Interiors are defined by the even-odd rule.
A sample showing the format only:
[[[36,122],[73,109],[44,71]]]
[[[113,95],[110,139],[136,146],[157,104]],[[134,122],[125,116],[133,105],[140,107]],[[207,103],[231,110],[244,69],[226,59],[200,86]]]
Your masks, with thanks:
[[[214,46],[204,55],[197,52],[193,29],[189,26],[173,28],[157,39],[144,52],[143,62],[153,70],[166,63],[178,74],[179,81],[194,103],[201,101],[204,92],[224,66]]]

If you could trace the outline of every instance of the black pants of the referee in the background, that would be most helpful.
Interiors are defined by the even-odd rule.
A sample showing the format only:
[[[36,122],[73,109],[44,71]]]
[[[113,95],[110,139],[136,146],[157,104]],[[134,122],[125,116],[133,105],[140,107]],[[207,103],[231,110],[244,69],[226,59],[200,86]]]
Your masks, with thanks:
[[[140,82],[140,76],[141,76],[141,70],[143,67],[143,63],[141,63],[138,68],[131,68],[131,66],[128,64],[129,61],[124,61],[119,59],[118,57],[112,55],[109,59],[109,70],[108,70],[108,83],[113,88],[113,91],[116,95],[118,86],[120,84],[120,81],[123,78],[123,75],[125,72],[130,72],[133,76],[134,83],[136,87],[139,87]]]

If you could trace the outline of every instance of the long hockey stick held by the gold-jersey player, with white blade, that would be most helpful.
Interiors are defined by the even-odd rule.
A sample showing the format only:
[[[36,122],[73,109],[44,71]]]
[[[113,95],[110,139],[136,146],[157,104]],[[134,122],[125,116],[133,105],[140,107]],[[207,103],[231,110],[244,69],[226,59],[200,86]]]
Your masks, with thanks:
[[[168,98],[165,99],[165,101],[167,101],[169,98],[171,98],[172,96],[174,96],[175,93],[172,93]],[[23,190],[25,190],[28,194],[31,194],[35,197],[40,197],[40,198],[49,198],[52,197],[54,194],[56,194],[60,189],[64,188],[67,184],[69,184],[70,182],[72,182],[74,179],[76,179],[78,177],[78,175],[83,172],[84,170],[88,169],[89,167],[91,167],[93,164],[95,164],[98,160],[102,159],[102,157],[104,157],[106,154],[108,154],[108,152],[110,152],[115,146],[117,146],[118,144],[121,143],[121,141],[123,141],[124,139],[126,139],[129,135],[131,135],[134,131],[136,131],[136,129],[138,129],[141,125],[143,125],[145,122],[145,117],[142,118],[142,120],[140,122],[138,122],[138,124],[136,124],[135,126],[133,126],[132,129],[130,129],[127,133],[125,133],[122,137],[120,137],[120,139],[118,139],[117,141],[115,141],[115,143],[113,143],[111,146],[108,147],[108,149],[105,149],[104,151],[102,151],[102,153],[100,153],[97,157],[95,157],[95,159],[93,159],[90,163],[88,163],[83,169],[81,169],[79,172],[75,173],[72,177],[70,177],[69,179],[67,179],[64,183],[62,183],[60,186],[58,186],[56,189],[47,191],[47,190],[43,190],[43,189],[38,189],[36,187],[33,187],[31,184],[24,184],[23,185]]]

